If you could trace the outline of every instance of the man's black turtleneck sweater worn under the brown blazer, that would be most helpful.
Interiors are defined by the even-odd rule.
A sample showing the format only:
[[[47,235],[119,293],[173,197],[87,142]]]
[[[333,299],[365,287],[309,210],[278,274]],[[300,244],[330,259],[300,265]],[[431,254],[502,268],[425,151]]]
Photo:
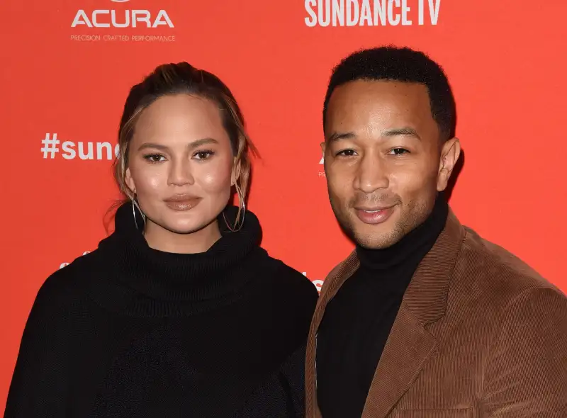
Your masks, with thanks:
[[[361,416],[405,290],[443,230],[447,213],[447,202],[439,195],[427,220],[393,246],[357,246],[360,267],[327,305],[318,331],[317,391],[323,418]]]

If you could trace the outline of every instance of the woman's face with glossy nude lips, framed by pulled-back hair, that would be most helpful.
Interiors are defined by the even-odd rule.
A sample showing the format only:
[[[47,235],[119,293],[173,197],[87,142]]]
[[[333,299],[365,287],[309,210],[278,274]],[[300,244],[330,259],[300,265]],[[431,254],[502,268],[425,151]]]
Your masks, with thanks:
[[[179,234],[202,230],[227,205],[235,177],[228,133],[213,101],[164,96],[142,112],[125,181],[147,222]]]

